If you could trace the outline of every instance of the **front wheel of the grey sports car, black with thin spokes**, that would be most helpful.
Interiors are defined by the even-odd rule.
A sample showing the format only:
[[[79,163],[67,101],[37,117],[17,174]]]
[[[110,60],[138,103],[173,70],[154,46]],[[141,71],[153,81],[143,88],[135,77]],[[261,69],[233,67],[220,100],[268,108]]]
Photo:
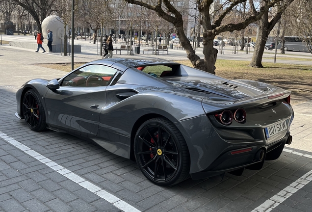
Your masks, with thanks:
[[[43,105],[34,90],[28,90],[23,98],[23,116],[28,127],[33,131],[46,129],[46,114]]]

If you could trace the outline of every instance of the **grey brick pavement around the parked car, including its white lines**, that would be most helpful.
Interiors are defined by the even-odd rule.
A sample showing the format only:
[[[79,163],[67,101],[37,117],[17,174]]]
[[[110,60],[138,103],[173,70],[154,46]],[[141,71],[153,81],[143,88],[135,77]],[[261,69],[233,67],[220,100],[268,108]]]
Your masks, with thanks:
[[[0,46],[0,212],[311,212],[312,102],[293,106],[292,144],[260,171],[160,187],[129,159],[15,117],[27,79],[64,75],[29,64],[64,60],[49,56]]]

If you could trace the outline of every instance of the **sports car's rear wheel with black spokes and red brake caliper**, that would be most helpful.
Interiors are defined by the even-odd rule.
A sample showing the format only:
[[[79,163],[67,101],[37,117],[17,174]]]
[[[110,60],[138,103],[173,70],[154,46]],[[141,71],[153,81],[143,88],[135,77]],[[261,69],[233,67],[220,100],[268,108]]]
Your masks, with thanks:
[[[144,176],[156,185],[175,185],[189,177],[186,142],[165,118],[150,119],[141,125],[134,138],[134,156]]]

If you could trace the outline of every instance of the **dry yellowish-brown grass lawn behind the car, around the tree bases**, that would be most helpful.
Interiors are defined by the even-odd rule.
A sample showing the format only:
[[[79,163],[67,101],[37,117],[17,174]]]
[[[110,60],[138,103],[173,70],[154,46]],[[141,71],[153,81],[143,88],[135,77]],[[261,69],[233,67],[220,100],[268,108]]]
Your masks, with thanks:
[[[297,58],[293,58],[297,59]],[[192,66],[189,60],[176,61]],[[75,68],[83,63],[76,63]],[[312,100],[312,66],[262,62],[264,68],[248,67],[249,61],[218,59],[216,75],[227,79],[251,79],[273,84],[292,91],[291,102],[298,104]],[[70,63],[39,64],[40,66],[71,71]]]

